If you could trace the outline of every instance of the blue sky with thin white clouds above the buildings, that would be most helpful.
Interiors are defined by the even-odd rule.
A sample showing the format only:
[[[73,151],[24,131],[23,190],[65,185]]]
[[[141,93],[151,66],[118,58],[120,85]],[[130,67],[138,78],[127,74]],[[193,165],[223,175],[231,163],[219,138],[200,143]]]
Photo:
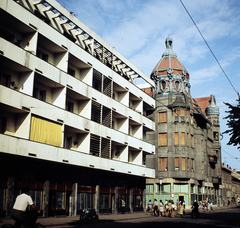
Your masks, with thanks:
[[[150,76],[173,38],[173,50],[190,74],[193,98],[215,95],[220,131],[227,130],[227,106],[240,92],[240,1],[182,0],[227,77],[180,0],[57,0],[93,32]],[[140,82],[137,82],[140,83]],[[221,140],[222,162],[240,171],[240,151]]]

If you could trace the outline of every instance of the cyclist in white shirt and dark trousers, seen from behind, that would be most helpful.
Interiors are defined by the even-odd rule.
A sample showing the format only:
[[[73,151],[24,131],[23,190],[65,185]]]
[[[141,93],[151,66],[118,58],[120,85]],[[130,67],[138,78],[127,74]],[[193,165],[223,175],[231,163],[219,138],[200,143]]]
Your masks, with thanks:
[[[17,196],[15,200],[12,210],[12,218],[15,220],[15,228],[20,228],[22,225],[24,228],[28,228],[32,225],[31,219],[26,213],[26,209],[28,205],[30,205],[30,207],[34,210],[36,210],[36,207],[34,206],[32,198],[29,194],[29,188],[25,188],[23,193]]]

